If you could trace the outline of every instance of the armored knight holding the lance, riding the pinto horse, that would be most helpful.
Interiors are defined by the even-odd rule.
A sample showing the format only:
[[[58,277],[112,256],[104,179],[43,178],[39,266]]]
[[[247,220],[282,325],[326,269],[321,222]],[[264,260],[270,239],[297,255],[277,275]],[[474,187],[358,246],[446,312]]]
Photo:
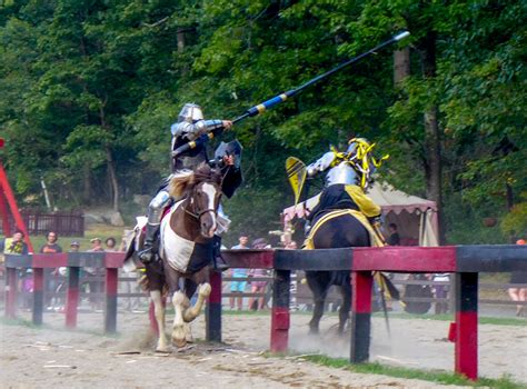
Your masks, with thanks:
[[[180,146],[188,142],[196,141],[199,137],[212,133],[220,134],[223,130],[232,127],[229,120],[203,120],[201,108],[193,103],[186,103],[178,116],[178,121],[170,128],[172,133],[171,141],[171,170],[172,174],[181,170],[193,170],[200,163],[206,162],[212,167],[219,168],[223,176],[221,190],[227,198],[230,198],[235,190],[241,183],[241,144],[235,140],[229,143],[221,142],[216,151],[215,159],[209,161],[207,156],[207,148],[205,142],[196,142],[196,147],[176,156],[173,151]],[[171,176],[170,176],[171,177]],[[157,194],[150,201],[147,211],[147,227],[145,233],[145,243],[142,250],[138,252],[139,259],[147,263],[158,258],[157,256],[157,239],[159,226],[161,223],[162,212],[166,207],[171,205],[171,199],[168,192],[168,182],[170,177],[163,180]],[[215,236],[215,266],[217,268],[226,268],[220,256],[221,239],[219,233],[227,230],[230,220],[225,216],[220,205],[218,210],[218,229]],[[220,261],[220,262],[219,262]]]

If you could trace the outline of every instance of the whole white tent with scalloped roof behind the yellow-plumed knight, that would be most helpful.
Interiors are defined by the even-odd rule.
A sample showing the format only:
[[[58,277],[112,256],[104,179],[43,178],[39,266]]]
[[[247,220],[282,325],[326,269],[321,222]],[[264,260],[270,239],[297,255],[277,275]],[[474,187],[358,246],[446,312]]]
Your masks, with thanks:
[[[402,246],[438,246],[437,207],[435,201],[407,194],[387,183],[375,182],[368,196],[382,209],[385,229],[396,223]],[[312,209],[318,196],[284,210],[284,221],[301,218],[306,210]],[[307,209],[306,209],[307,208]],[[388,233],[388,232],[387,232]]]

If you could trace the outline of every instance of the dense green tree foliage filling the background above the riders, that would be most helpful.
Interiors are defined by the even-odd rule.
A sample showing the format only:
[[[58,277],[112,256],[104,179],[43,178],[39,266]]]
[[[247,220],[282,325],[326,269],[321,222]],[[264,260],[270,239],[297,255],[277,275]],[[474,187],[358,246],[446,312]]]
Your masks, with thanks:
[[[227,240],[277,229],[288,156],[311,161],[356,134],[390,153],[381,179],[428,194],[424,114],[436,109],[449,242],[504,242],[525,231],[523,206],[507,213],[527,190],[526,17],[517,0],[3,1],[2,159],[23,203],[43,203],[41,178],[59,207],[127,203],[169,173],[185,102],[236,118],[409,29],[400,84],[382,50],[236,126],[246,183],[226,201]],[[484,217],[503,235],[474,230]]]

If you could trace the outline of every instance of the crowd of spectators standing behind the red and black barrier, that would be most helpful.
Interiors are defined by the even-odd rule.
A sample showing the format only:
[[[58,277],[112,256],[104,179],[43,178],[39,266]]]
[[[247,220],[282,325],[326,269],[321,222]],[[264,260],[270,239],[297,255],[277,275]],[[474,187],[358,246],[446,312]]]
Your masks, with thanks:
[[[387,239],[387,245],[389,246],[399,246],[400,237],[398,233],[398,227],[395,223],[389,225],[390,235]],[[63,252],[62,247],[58,242],[58,233],[54,231],[49,231],[46,235],[46,243],[42,245],[39,249],[40,253],[57,253]],[[525,245],[524,239],[516,241],[517,245]],[[238,245],[232,246],[233,250],[246,250],[246,249],[266,249],[271,246],[265,238],[257,238],[251,243],[249,243],[249,236],[242,233],[238,238]],[[297,249],[298,246],[296,241],[291,240],[285,245],[286,249]],[[68,252],[78,252],[78,251],[88,251],[88,252],[98,252],[98,251],[125,251],[126,242],[122,240],[120,246],[117,246],[117,240],[113,237],[108,237],[102,241],[101,238],[92,238],[90,240],[90,247],[86,250],[81,250],[81,245],[78,240],[72,240],[69,245]],[[11,238],[6,238],[0,240],[0,252],[2,253],[19,253],[27,255],[28,245],[24,242],[24,235],[22,231],[17,230]],[[32,280],[32,270],[28,269],[20,275],[21,288],[26,293],[26,299],[22,302],[23,307],[30,308],[30,292],[33,289]],[[52,295],[63,291],[66,287],[64,277],[67,276],[67,268],[49,268],[44,271],[44,286],[46,286],[46,306],[48,310],[60,310],[63,307],[63,301],[53,298]],[[86,292],[92,293],[89,298],[92,309],[100,309],[101,299],[98,296],[102,292],[103,281],[100,279],[101,269],[96,268],[83,268],[81,277],[86,278],[87,281],[83,282],[82,288]],[[270,273],[266,269],[240,269],[235,268],[230,269],[227,276],[231,277],[228,288],[231,295],[229,298],[229,306],[231,310],[242,310],[245,298],[243,295],[250,293],[247,300],[247,307],[251,310],[264,310],[267,309],[266,293],[269,295],[269,277]],[[432,281],[448,281],[448,273],[435,273],[427,275],[429,280]],[[521,271],[515,271],[511,273],[509,283],[510,288],[507,289],[508,296],[513,301],[525,302],[527,301],[527,288],[516,287],[516,285],[527,283],[527,275]],[[446,299],[448,297],[448,285],[436,285],[432,288],[434,297],[437,299]],[[448,312],[447,302],[437,302],[436,303],[436,313]],[[527,308],[524,305],[516,306],[516,316],[526,316]]]

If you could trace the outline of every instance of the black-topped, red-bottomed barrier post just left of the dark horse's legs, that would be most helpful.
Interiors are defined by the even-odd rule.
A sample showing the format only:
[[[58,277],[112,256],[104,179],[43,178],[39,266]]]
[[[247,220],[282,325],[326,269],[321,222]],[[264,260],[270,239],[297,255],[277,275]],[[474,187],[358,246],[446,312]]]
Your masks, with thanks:
[[[272,352],[287,351],[289,342],[290,270],[275,270],[272,283],[271,345]]]

